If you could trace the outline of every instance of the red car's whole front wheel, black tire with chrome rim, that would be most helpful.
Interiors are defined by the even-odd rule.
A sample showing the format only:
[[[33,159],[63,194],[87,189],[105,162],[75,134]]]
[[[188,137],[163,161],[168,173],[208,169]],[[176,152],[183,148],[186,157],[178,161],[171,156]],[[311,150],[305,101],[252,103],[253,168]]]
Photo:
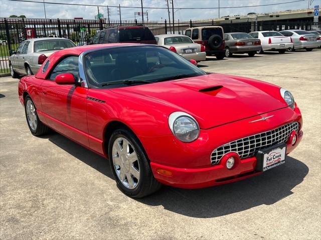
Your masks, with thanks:
[[[120,127],[111,134],[108,157],[117,186],[126,195],[139,198],[161,188],[140,141],[129,129]]]

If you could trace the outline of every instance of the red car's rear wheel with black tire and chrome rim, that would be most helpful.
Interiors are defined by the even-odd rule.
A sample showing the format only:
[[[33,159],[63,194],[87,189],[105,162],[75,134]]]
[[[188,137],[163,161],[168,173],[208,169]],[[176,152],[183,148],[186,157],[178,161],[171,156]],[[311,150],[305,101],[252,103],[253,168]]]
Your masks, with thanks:
[[[29,95],[25,98],[25,113],[27,124],[33,135],[40,136],[49,132],[50,128],[39,119],[37,108]]]

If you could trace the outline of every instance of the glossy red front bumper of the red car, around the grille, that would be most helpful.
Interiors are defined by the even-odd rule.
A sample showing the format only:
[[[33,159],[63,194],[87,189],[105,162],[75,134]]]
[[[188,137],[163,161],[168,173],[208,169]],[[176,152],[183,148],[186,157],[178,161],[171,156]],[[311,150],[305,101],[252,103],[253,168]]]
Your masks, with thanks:
[[[299,122],[298,139],[294,146],[287,145],[287,153],[300,142],[303,132],[301,113],[297,107],[275,110],[262,116],[270,116],[264,121],[251,122],[259,116],[246,118],[229,124],[201,130],[199,138],[191,143],[180,142],[174,135],[159,137],[139,136],[155,178],[164,184],[182,188],[200,188],[228,183],[260,174],[255,171],[256,157],[241,159],[237,167],[227,169],[223,163],[211,165],[212,151],[227,142],[248,135],[277,128],[283,124]],[[157,147],[155,147],[157,146]],[[171,176],[157,172],[157,169],[172,172]]]

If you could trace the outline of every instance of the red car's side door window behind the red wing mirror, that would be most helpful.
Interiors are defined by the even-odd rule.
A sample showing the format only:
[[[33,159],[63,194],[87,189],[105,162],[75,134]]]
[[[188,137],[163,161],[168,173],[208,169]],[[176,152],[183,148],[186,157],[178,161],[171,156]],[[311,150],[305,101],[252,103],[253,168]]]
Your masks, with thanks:
[[[49,79],[55,80],[56,76],[62,73],[71,73],[77,79],[79,73],[78,56],[68,56],[62,59],[50,73]]]

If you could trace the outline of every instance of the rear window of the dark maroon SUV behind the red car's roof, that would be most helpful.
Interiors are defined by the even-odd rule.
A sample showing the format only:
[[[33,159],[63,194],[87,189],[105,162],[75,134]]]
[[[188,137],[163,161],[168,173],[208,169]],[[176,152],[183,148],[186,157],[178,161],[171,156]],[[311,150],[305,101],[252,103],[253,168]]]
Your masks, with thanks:
[[[148,41],[155,40],[153,34],[147,27],[119,28],[119,41]]]

